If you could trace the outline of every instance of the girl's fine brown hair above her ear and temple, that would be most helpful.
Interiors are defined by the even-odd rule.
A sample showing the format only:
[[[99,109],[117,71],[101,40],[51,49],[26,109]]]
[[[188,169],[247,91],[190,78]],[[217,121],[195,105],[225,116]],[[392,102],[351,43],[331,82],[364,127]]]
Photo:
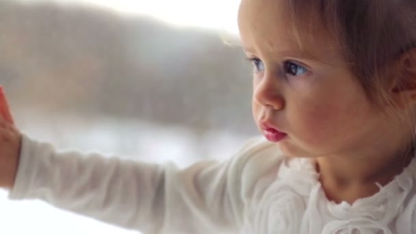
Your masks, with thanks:
[[[352,73],[373,98],[374,91],[392,78],[385,75],[390,74],[392,62],[416,42],[413,0],[287,0],[286,3],[295,23],[292,27],[295,35],[302,34],[299,29],[304,31],[304,25],[312,22],[311,16],[318,14],[319,23],[340,42]],[[300,44],[307,43],[300,36],[297,39]]]

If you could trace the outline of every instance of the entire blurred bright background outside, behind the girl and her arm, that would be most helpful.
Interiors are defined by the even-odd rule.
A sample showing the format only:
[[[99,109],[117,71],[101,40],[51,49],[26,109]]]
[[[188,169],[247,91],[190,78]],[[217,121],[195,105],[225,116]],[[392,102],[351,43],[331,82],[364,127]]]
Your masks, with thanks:
[[[186,166],[257,135],[239,0],[2,0],[0,85],[57,148]],[[0,233],[138,233],[0,190]]]

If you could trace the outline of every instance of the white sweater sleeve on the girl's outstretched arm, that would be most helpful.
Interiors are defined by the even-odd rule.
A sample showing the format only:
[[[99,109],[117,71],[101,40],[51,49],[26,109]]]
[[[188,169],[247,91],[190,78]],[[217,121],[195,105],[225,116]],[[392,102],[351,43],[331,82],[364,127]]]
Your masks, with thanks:
[[[23,135],[11,199],[40,199],[144,233],[229,233],[244,222],[257,179],[276,160],[253,160],[254,140],[229,161],[174,164],[58,152]],[[266,147],[267,148],[267,147]],[[260,165],[261,164],[261,165]]]

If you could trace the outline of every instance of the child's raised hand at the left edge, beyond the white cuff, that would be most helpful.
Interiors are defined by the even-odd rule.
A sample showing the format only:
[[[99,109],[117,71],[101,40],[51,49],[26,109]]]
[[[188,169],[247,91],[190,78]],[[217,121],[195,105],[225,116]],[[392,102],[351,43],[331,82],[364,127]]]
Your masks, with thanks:
[[[14,126],[12,114],[0,86],[0,187],[11,189],[16,179],[22,135]]]

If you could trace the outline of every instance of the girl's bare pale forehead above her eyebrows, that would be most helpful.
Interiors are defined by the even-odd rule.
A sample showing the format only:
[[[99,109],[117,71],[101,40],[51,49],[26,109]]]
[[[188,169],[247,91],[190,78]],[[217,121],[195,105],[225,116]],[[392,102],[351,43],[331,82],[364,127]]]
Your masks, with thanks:
[[[292,51],[324,62],[340,57],[338,43],[324,29],[320,18],[304,11],[307,24],[296,25],[293,18],[300,12],[292,13],[288,2],[242,0],[238,25],[243,47],[257,53]]]

